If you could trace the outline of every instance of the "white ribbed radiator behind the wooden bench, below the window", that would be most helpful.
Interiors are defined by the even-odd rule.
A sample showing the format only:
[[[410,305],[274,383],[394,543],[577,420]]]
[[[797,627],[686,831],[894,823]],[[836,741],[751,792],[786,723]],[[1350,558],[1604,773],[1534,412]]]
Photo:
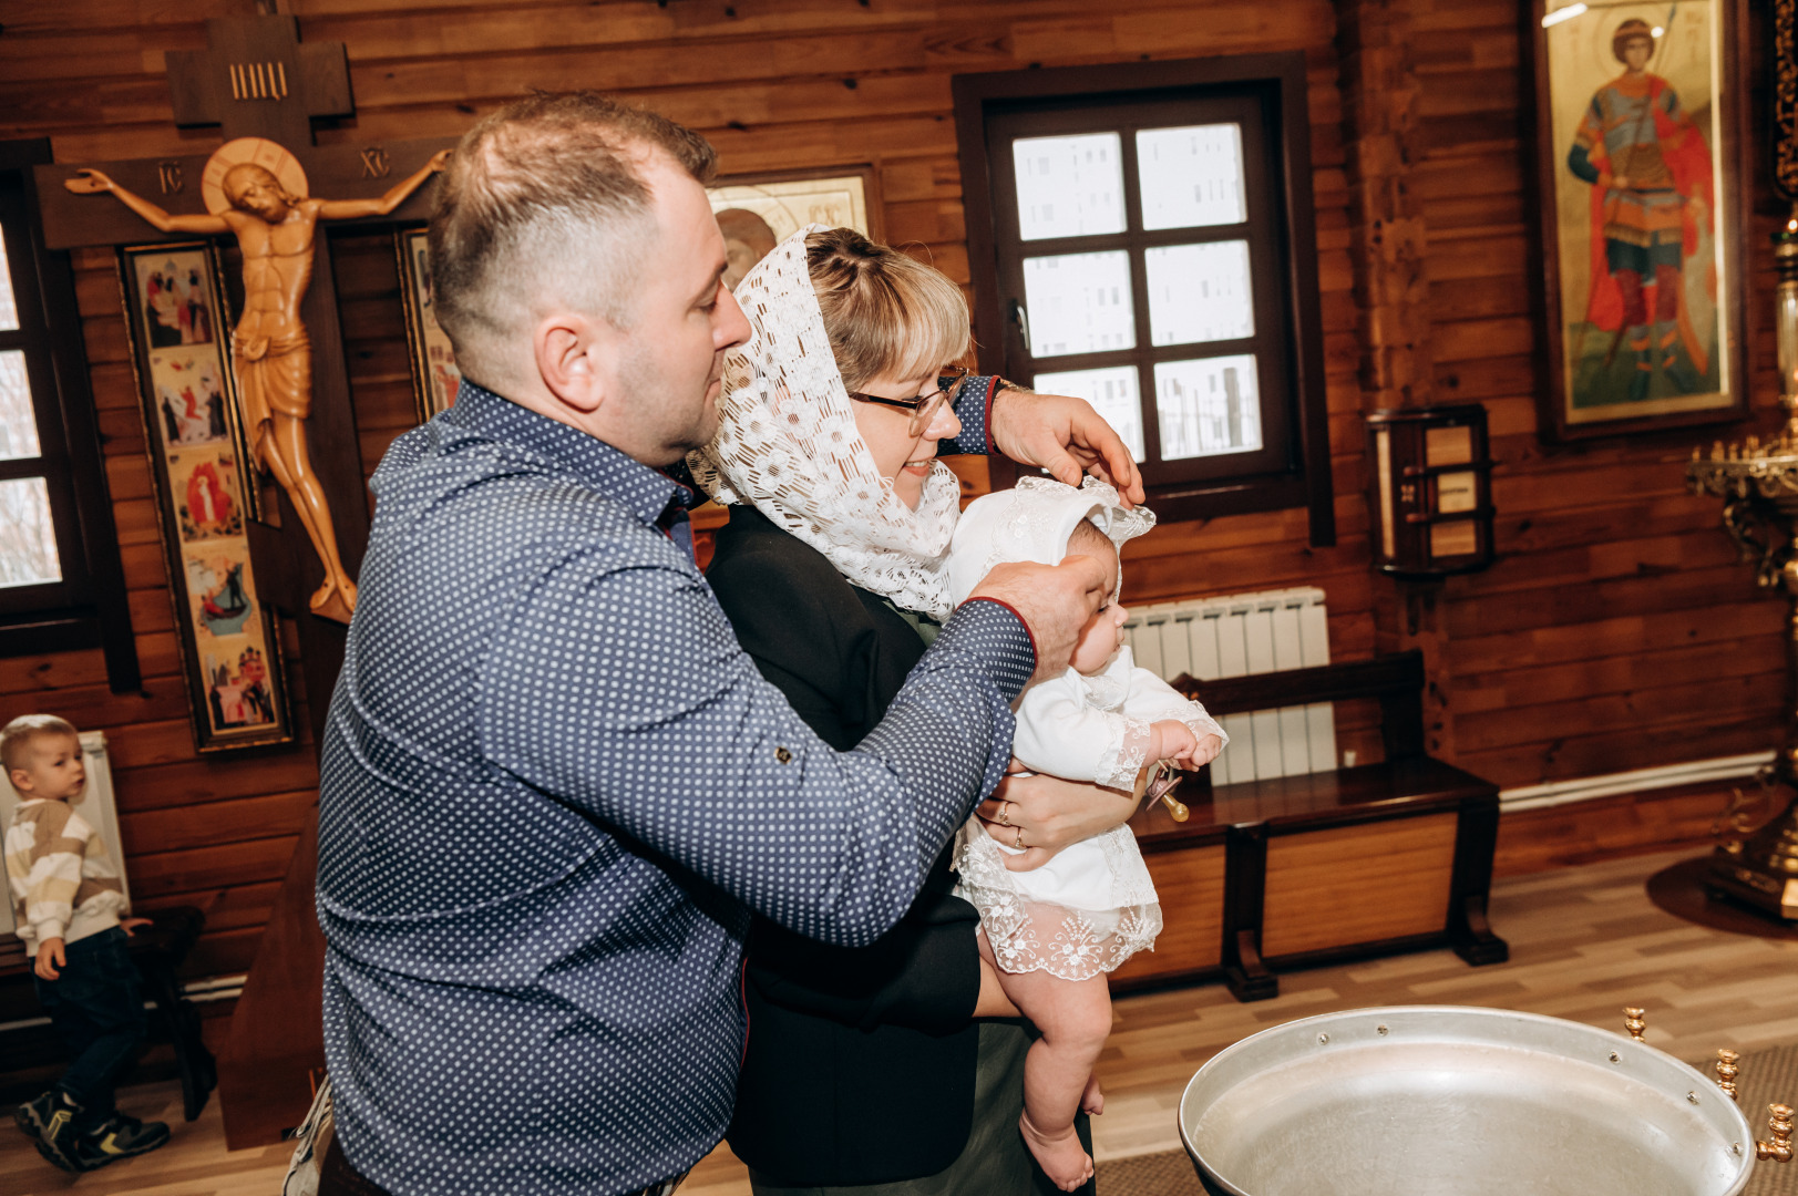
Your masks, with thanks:
[[[1314,586],[1133,606],[1124,640],[1136,664],[1169,682],[1181,673],[1208,682],[1331,662],[1323,590]],[[1336,712],[1329,701],[1217,721],[1230,746],[1212,761],[1212,784],[1336,768]]]

